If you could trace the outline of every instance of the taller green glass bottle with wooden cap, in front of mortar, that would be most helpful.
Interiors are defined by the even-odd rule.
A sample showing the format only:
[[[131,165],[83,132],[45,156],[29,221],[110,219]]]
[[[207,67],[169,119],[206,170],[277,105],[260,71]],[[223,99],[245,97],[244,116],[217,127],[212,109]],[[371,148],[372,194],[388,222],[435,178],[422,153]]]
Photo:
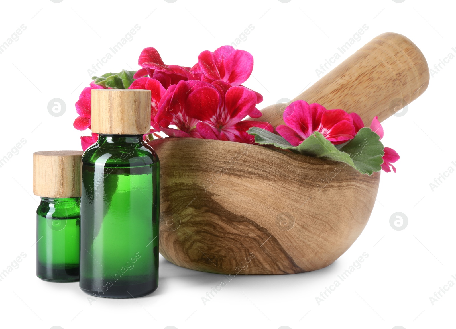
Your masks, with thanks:
[[[82,158],[79,287],[133,298],[158,286],[160,167],[150,132],[150,91],[93,89],[98,141]]]

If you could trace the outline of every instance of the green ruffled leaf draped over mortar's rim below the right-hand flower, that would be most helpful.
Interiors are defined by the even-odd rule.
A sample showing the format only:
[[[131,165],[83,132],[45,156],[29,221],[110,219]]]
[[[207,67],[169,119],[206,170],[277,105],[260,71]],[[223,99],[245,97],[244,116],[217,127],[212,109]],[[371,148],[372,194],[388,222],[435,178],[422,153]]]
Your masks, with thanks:
[[[372,175],[374,171],[382,169],[380,164],[383,163],[383,144],[380,136],[369,128],[360,129],[355,138],[342,144],[340,149],[319,132],[314,132],[298,146],[291,146],[283,137],[259,127],[252,127],[247,133],[255,136],[258,144],[274,145],[294,153],[344,162],[362,174]]]

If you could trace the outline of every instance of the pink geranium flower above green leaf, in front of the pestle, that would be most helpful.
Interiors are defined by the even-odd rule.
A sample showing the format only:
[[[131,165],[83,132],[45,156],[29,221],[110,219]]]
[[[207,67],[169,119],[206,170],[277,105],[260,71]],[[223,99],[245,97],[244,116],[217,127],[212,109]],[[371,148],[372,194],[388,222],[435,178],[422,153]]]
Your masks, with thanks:
[[[355,137],[353,118],[347,112],[326,110],[317,103],[298,100],[283,114],[286,125],[277,126],[277,132],[291,145],[297,146],[314,132],[321,133],[332,144],[342,144]]]

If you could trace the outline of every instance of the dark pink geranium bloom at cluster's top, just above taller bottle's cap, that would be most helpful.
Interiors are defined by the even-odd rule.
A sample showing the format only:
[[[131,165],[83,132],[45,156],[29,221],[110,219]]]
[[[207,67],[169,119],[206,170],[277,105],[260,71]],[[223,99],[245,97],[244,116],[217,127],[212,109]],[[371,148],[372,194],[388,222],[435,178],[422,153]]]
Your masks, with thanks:
[[[201,73],[199,75],[193,74],[190,67],[166,65],[154,47],[147,47],[141,51],[138,65],[142,68],[135,73],[134,79],[149,75],[149,77],[160,81],[165,89],[181,80],[199,80],[201,77]]]

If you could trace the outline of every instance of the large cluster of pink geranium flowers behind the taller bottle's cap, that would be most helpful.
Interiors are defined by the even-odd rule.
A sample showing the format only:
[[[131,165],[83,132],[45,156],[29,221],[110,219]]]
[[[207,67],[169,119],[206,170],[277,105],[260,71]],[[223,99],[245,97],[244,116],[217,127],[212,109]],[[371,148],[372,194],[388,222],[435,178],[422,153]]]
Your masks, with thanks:
[[[163,131],[169,136],[254,143],[247,134],[250,127],[273,131],[269,123],[242,121],[261,116],[255,105],[263,100],[261,94],[242,86],[253,69],[253,57],[247,51],[222,46],[214,52],[203,51],[193,67],[184,67],[165,64],[155,48],[147,47],[138,64],[141,68],[129,88],[151,91],[152,129],[145,138]],[[78,130],[90,129],[93,88],[104,87],[92,82],[81,93],[76,103],[79,116],[73,123]],[[97,134],[81,137],[83,149],[97,138]]]

